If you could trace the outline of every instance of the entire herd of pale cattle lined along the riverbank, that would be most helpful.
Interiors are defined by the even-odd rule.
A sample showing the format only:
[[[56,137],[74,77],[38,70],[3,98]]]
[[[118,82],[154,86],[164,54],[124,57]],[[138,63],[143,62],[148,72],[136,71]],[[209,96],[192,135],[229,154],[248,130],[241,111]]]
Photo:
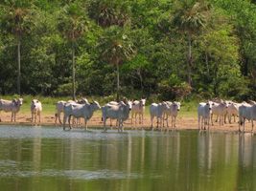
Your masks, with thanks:
[[[22,98],[5,100],[0,99],[0,112],[11,112],[12,121],[15,121],[16,114],[19,112],[20,107],[23,103]],[[56,104],[56,120],[60,124],[63,124],[63,129],[65,130],[66,122],[69,123],[69,128],[71,129],[71,117],[73,117],[73,123],[77,119],[77,124],[80,122],[80,118],[84,118],[85,129],[87,130],[87,121],[93,116],[93,113],[97,110],[102,110],[102,120],[104,123],[104,128],[106,131],[106,119],[110,119],[110,126],[112,124],[111,120],[116,119],[116,125],[118,126],[118,131],[124,131],[124,121],[128,119],[129,113],[131,113],[131,124],[137,123],[143,124],[144,114],[145,114],[145,104],[146,99],[142,98],[140,100],[128,101],[124,98],[123,101],[116,102],[110,101],[104,106],[100,106],[97,101],[89,102],[86,98],[81,98],[79,101],[58,101]],[[151,103],[150,115],[151,115],[151,129],[153,130],[153,118],[157,118],[157,128],[163,130],[169,130],[169,117],[171,118],[171,127],[175,128],[175,120],[180,110],[180,102],[174,101],[163,101],[160,103]],[[33,99],[31,102],[31,114],[32,122],[37,123],[41,120],[42,104],[39,100]],[[63,123],[60,120],[60,114],[63,113]],[[245,119],[251,122],[251,131],[253,131],[253,120],[256,120],[256,102],[250,101],[236,103],[234,101],[207,101],[200,102],[198,104],[198,129],[205,130],[206,127],[209,129],[210,124],[213,125],[213,116],[216,116],[216,122],[219,121],[220,126],[223,123],[232,122],[232,117],[234,117],[234,122],[236,122],[236,117],[239,117],[239,131],[241,131],[241,126],[245,123]],[[38,117],[38,119],[37,119]],[[1,117],[0,117],[1,121]],[[166,123],[166,127],[165,127]]]

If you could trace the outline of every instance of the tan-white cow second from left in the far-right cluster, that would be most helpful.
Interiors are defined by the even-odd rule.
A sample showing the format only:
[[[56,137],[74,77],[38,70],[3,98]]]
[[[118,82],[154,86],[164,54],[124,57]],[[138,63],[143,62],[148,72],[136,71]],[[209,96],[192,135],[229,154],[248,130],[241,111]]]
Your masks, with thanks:
[[[217,116],[216,121],[218,121],[218,117],[219,117],[219,121],[220,121],[220,126],[224,124],[224,117],[227,113],[227,103],[225,101],[221,101],[221,103],[216,103],[216,102],[210,102],[212,103],[212,113],[211,113],[211,121],[212,121],[212,125],[214,125],[213,123],[213,115]]]

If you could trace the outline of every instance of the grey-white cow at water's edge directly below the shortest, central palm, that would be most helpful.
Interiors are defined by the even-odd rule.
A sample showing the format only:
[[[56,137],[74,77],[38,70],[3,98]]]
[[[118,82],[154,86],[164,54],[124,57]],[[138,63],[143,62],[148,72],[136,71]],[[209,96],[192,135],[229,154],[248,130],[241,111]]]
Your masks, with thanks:
[[[107,118],[117,119],[118,132],[119,131],[123,132],[124,131],[123,123],[125,120],[128,119],[129,111],[130,111],[130,105],[126,100],[120,101],[117,105],[106,104],[102,108],[105,132],[106,132],[105,121]]]

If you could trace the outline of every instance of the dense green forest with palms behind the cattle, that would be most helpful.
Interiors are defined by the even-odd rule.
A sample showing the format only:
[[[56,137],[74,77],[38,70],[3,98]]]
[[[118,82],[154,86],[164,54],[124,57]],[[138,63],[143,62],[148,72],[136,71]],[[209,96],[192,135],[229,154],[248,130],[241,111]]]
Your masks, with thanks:
[[[249,0],[1,0],[0,95],[256,98]]]

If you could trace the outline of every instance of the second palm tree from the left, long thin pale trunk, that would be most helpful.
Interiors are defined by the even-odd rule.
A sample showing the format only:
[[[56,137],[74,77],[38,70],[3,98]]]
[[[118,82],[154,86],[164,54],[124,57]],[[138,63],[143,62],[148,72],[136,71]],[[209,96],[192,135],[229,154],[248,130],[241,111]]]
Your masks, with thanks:
[[[75,49],[77,40],[87,29],[87,19],[84,15],[84,9],[77,4],[72,3],[66,5],[58,18],[58,31],[63,34],[67,41],[71,44],[72,49],[72,96],[76,99],[76,57]]]

